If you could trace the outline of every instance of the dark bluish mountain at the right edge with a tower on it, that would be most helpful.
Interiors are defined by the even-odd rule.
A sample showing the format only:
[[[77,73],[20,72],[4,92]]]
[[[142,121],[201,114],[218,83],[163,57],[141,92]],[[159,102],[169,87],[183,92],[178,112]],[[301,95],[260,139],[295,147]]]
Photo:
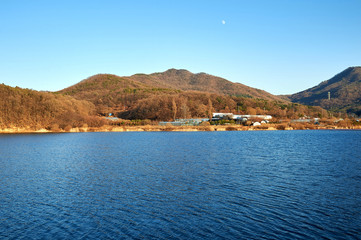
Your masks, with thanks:
[[[361,115],[361,67],[349,67],[315,87],[287,97],[296,103]]]

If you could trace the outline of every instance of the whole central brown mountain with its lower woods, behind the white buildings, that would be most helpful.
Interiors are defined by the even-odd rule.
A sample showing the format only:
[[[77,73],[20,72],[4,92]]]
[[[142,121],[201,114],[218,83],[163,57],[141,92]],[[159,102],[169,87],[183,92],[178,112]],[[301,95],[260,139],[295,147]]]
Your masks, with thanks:
[[[100,115],[113,113],[124,119],[205,118],[212,112],[288,118],[321,114],[320,108],[292,104],[262,90],[175,69],[130,77],[98,74],[58,93],[93,103]]]

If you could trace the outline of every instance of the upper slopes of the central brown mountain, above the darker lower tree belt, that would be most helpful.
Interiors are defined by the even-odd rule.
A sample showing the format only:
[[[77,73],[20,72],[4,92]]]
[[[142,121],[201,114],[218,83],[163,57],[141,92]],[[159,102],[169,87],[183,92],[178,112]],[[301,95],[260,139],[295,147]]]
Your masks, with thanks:
[[[141,99],[155,95],[177,94],[181,91],[285,102],[263,90],[240,83],[232,83],[205,73],[193,74],[187,70],[176,69],[149,75],[135,74],[130,77],[97,74],[59,93],[90,101],[99,107],[100,112],[109,112],[109,107],[125,110]]]

